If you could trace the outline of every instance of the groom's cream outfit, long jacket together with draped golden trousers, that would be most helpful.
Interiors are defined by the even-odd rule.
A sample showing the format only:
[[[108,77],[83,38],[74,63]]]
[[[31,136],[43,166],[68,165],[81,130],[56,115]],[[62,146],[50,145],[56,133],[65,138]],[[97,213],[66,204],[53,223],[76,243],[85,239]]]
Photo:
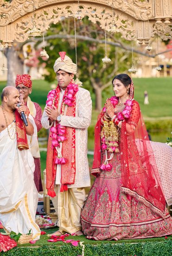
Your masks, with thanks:
[[[60,124],[76,128],[76,176],[75,183],[68,185],[68,190],[60,192],[61,165],[57,165],[56,197],[52,197],[55,210],[58,214],[60,232],[70,234],[81,230],[80,215],[85,201],[84,187],[90,186],[89,164],[87,158],[87,128],[91,122],[92,101],[89,91],[79,87],[76,93],[76,117],[61,116]],[[59,95],[58,110],[60,110],[64,91]],[[46,112],[43,113],[41,123],[48,129],[49,120]],[[68,149],[66,149],[68,150]]]

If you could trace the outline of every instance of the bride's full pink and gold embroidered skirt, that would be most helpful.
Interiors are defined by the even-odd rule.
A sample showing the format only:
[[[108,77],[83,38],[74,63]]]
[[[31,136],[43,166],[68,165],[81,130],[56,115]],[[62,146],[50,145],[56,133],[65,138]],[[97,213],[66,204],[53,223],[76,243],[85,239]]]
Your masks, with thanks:
[[[121,191],[120,154],[111,171],[101,171],[85,202],[81,223],[84,235],[95,240],[136,239],[172,234],[172,217],[160,217],[144,203]]]

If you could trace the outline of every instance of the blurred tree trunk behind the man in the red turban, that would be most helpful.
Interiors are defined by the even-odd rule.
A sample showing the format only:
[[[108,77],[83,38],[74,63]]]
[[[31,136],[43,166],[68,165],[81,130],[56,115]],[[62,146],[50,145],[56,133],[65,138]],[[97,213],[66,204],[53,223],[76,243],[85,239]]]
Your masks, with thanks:
[[[18,52],[12,46],[11,48],[6,49],[6,58],[7,58],[7,86],[15,86],[16,75],[23,74],[23,61],[19,59]]]

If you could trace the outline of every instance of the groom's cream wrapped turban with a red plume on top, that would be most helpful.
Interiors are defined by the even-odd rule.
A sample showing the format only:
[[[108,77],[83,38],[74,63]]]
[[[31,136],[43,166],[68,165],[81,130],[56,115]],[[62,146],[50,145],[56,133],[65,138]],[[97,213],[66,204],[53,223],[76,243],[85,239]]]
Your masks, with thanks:
[[[72,60],[65,55],[65,52],[59,52],[60,57],[56,59],[54,63],[54,72],[57,73],[59,69],[63,70],[64,72],[68,72],[71,74],[76,75],[77,66]]]

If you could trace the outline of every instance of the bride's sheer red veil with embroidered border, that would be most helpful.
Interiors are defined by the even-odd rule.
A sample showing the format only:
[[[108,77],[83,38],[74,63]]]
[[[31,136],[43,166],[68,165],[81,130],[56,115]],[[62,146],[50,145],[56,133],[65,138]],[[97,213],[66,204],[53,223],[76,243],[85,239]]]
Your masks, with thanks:
[[[130,98],[133,97],[130,95]],[[125,119],[121,127],[121,191],[137,198],[161,217],[164,217],[166,201],[161,190],[158,169],[153,156],[150,162],[148,152],[152,152],[153,155],[153,151],[140,113],[140,106],[135,100],[133,100],[133,103],[130,118]],[[95,127],[94,160],[91,171],[94,176],[101,171],[100,132],[103,114],[104,112],[102,111],[98,116]],[[126,123],[135,126],[132,134],[127,134]]]

